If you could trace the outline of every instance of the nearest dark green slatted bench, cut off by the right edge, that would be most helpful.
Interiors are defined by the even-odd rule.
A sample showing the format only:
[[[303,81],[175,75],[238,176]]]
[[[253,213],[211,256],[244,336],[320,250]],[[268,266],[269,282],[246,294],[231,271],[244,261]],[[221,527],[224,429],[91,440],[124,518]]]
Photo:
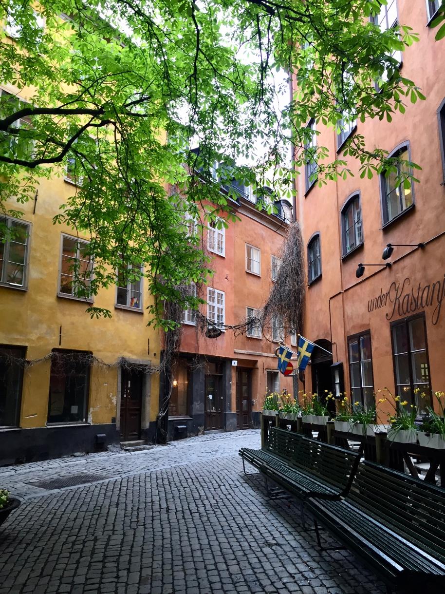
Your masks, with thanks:
[[[371,462],[361,463],[339,500],[310,495],[317,520],[403,594],[445,593],[445,489]]]

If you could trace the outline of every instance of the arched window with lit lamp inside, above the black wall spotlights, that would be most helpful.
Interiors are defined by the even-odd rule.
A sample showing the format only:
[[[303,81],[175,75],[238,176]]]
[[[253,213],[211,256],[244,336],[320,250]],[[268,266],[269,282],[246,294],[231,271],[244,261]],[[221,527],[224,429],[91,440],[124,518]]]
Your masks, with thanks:
[[[391,157],[409,161],[408,147],[395,151]],[[382,201],[383,201],[383,225],[395,219],[403,211],[408,210],[414,204],[412,182],[407,177],[411,172],[405,163],[396,163],[396,170],[382,173]],[[400,182],[400,178],[405,181]],[[408,187],[405,187],[408,186]]]

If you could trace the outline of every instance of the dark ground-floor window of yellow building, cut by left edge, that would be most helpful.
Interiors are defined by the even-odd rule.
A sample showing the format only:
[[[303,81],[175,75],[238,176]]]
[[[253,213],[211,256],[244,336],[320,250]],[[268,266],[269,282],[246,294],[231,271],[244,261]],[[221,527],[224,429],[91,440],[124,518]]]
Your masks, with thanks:
[[[24,365],[17,359],[24,360],[25,351],[23,347],[0,346],[0,427],[19,424]]]

